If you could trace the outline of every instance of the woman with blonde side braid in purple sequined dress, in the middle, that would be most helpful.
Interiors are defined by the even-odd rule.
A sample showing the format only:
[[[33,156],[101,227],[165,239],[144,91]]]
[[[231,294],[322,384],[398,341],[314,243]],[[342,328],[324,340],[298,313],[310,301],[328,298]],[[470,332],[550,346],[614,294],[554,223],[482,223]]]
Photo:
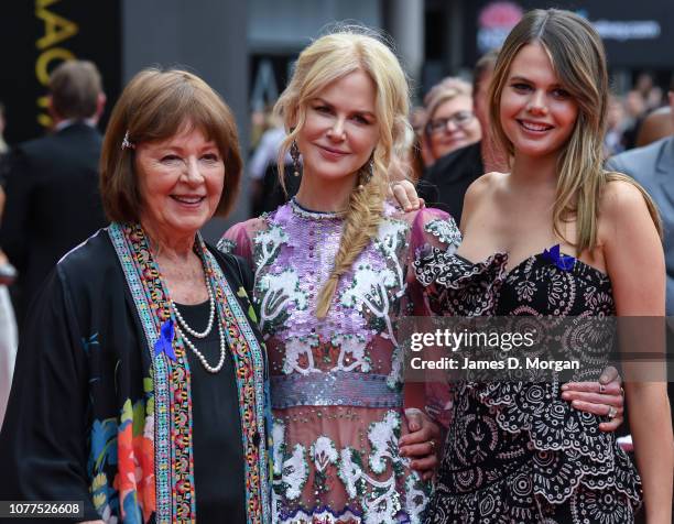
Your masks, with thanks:
[[[377,37],[346,29],[309,45],[276,105],[290,133],[280,157],[290,151],[300,190],[220,244],[256,273],[274,522],[421,522],[426,488],[413,468],[434,465],[434,434],[409,434],[395,320],[412,308],[415,245],[458,236],[439,211],[384,201],[389,164],[412,137],[407,99]]]

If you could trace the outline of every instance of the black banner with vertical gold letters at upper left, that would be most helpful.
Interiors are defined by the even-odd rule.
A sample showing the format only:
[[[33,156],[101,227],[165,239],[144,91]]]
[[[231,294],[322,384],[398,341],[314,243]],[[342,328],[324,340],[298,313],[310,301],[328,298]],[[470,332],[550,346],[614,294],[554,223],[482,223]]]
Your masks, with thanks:
[[[46,86],[50,73],[64,61],[94,62],[108,100],[117,99],[121,86],[120,0],[24,0],[3,2],[2,8],[0,101],[6,107],[10,144],[41,137],[51,125]]]

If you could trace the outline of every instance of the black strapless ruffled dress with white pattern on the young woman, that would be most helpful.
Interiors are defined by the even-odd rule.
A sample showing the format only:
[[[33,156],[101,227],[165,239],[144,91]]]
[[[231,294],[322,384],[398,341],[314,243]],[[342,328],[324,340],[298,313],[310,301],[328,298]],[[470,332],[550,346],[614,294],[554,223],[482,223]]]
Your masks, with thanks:
[[[415,271],[442,315],[615,315],[611,284],[600,271],[577,260],[559,269],[536,254],[506,272],[507,261],[499,253],[471,263],[433,249],[418,256]],[[581,342],[579,334],[569,336]],[[600,349],[588,356],[593,370],[583,367],[574,380],[599,376],[610,353]],[[426,522],[633,522],[641,492],[634,467],[615,436],[599,430],[601,417],[573,410],[559,386],[555,380],[457,385]]]

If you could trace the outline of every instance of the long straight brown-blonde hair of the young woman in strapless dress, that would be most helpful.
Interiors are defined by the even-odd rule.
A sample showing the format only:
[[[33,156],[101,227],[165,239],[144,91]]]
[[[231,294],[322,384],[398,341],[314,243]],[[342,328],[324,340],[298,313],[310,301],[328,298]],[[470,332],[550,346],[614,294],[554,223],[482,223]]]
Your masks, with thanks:
[[[639,188],[662,236],[655,204],[632,178],[602,168],[602,141],[608,107],[608,74],[604,44],[584,18],[557,9],[529,11],[510,32],[499,53],[490,91],[490,117],[494,137],[512,156],[514,149],[500,119],[501,94],[518,52],[537,42],[550,56],[562,87],[578,105],[574,130],[557,160],[557,190],[553,206],[555,234],[583,251],[597,245],[599,200],[607,183],[623,181]],[[562,223],[576,220],[576,239],[566,239]]]

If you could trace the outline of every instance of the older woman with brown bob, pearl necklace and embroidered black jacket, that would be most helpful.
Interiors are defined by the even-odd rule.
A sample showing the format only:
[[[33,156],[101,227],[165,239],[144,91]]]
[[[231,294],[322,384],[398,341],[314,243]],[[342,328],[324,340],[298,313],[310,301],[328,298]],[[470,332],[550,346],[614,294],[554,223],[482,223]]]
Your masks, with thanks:
[[[106,134],[112,223],[57,264],[21,340],[0,499],[80,501],[84,520],[269,522],[264,356],[226,214],[235,120],[203,80],[144,70]]]

